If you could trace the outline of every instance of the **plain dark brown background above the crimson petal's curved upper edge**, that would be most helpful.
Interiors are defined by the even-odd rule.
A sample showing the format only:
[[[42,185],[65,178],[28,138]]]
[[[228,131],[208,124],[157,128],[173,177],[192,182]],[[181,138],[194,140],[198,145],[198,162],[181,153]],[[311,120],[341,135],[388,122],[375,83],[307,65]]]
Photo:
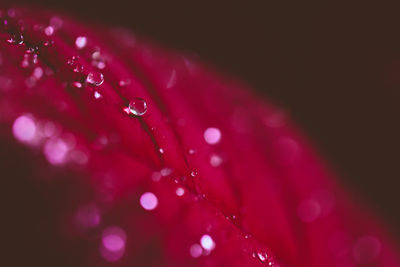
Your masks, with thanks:
[[[400,237],[398,6],[233,0],[13,2],[131,28],[171,48],[194,52],[247,81],[290,111],[343,182],[386,217]]]

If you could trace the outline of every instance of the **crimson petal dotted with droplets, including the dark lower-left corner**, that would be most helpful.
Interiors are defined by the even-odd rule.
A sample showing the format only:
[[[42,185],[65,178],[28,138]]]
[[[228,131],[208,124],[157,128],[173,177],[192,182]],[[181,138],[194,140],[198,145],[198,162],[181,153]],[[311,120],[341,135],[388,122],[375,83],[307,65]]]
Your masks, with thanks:
[[[245,85],[125,30],[0,15],[13,265],[398,265],[381,223]]]

